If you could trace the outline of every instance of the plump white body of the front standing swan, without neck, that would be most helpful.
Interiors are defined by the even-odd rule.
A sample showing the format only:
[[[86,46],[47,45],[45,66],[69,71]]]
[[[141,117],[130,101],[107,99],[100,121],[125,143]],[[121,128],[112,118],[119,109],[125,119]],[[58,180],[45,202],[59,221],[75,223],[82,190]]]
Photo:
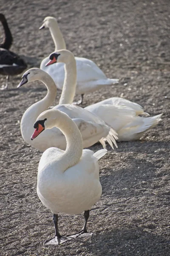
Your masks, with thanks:
[[[63,172],[57,158],[62,157],[64,152],[58,148],[48,148],[42,154],[38,167],[37,194],[42,204],[55,214],[80,214],[91,209],[102,194],[99,164],[94,152],[84,149],[79,162]]]

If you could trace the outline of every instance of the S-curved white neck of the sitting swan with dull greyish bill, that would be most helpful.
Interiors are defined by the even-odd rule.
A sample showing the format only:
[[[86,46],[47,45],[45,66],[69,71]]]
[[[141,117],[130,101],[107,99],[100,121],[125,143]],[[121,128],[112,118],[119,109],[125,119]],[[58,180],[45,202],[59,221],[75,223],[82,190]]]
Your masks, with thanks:
[[[26,138],[30,139],[32,132],[34,131],[33,124],[36,121],[37,117],[43,111],[47,110],[51,104],[54,102],[57,95],[57,87],[51,78],[45,71],[37,69],[37,78],[35,80],[40,80],[47,87],[47,95],[41,99],[40,101],[31,105],[23,114],[21,119],[21,133],[26,140]]]

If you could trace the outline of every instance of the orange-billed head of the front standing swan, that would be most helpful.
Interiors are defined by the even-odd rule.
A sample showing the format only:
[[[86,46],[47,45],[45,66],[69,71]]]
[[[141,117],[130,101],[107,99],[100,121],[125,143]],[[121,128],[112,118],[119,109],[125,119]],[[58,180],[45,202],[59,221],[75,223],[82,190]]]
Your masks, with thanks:
[[[57,110],[49,109],[40,114],[34,123],[34,133],[31,136],[31,140],[34,140],[42,131],[51,129],[59,125],[63,120],[63,116],[67,114]]]

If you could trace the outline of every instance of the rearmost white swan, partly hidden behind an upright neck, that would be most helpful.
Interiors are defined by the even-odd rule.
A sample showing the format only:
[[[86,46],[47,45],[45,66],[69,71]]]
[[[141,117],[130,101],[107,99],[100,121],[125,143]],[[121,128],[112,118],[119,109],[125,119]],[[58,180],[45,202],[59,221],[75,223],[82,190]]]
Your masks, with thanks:
[[[54,40],[55,51],[60,49],[66,49],[64,38],[59,29],[57,20],[54,17],[45,17],[40,29],[48,27],[51,32],[51,36]],[[105,76],[102,70],[91,60],[87,58],[75,57],[77,64],[77,87],[76,93],[81,94],[81,100],[78,104],[82,103],[83,94],[91,93],[95,90],[99,90],[104,85],[118,83],[119,79],[109,79]],[[40,69],[46,71],[53,79],[57,88],[62,90],[64,83],[64,64],[59,63],[54,66],[45,67],[48,61],[48,57],[43,59],[40,64]]]

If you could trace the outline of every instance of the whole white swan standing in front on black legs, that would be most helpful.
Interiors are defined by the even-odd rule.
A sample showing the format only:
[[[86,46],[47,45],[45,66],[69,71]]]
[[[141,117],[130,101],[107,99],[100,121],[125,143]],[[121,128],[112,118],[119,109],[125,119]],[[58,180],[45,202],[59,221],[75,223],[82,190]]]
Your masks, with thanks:
[[[48,148],[40,159],[37,175],[37,194],[42,204],[53,213],[55,236],[45,244],[62,244],[87,233],[89,210],[99,200],[102,186],[99,182],[98,160],[106,149],[94,153],[82,150],[82,137],[77,125],[65,113],[47,110],[37,117],[34,140],[42,131],[58,127],[66,137],[67,148]],[[80,232],[63,237],[58,230],[58,212],[70,215],[84,213],[85,224]]]

